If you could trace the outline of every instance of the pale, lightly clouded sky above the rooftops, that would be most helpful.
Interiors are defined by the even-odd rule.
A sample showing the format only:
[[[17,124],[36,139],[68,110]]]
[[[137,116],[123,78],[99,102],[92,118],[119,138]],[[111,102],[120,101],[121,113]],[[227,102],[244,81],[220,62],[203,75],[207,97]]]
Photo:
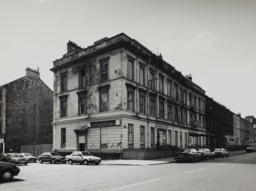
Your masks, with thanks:
[[[232,112],[256,116],[255,10],[255,0],[0,0],[0,85],[39,67],[53,90],[68,40],[126,33]]]

